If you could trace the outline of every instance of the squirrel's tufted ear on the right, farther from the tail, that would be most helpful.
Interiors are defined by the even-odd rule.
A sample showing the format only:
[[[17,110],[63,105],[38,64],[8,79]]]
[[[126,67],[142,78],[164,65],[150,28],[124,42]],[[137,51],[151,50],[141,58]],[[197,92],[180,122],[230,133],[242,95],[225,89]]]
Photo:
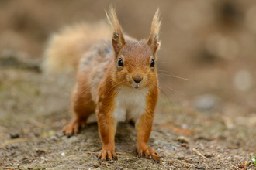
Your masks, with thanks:
[[[151,24],[150,36],[147,41],[147,44],[152,49],[153,53],[156,53],[160,49],[161,42],[158,40],[158,33],[161,27],[161,21],[159,20],[159,9],[154,14],[154,18]]]

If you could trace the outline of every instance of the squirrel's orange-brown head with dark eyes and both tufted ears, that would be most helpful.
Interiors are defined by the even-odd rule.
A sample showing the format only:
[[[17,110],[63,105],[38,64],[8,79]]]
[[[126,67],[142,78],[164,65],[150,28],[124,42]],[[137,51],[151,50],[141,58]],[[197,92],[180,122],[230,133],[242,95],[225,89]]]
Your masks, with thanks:
[[[154,15],[150,36],[140,41],[123,36],[115,10],[110,7],[107,18],[112,26],[114,52],[114,80],[120,86],[134,89],[157,86],[156,53],[160,49],[158,32],[161,26],[159,11]]]

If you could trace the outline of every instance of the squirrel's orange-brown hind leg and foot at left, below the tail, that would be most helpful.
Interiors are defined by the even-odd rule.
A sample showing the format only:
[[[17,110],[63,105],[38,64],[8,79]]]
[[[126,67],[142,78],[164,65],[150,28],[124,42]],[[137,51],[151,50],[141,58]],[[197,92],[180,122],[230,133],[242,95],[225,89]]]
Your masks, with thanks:
[[[86,77],[78,80],[71,93],[71,109],[73,117],[69,124],[63,128],[67,137],[79,133],[81,125],[85,125],[88,117],[95,113],[95,102],[92,101],[89,85],[86,85]]]

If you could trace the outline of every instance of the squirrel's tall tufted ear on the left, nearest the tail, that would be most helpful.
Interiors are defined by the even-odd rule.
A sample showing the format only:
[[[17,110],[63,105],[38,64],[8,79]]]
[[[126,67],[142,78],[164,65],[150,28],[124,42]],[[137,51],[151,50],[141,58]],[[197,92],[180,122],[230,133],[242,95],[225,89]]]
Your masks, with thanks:
[[[112,8],[112,6],[110,6],[109,12],[106,12],[106,16],[109,20],[110,26],[112,27],[112,48],[117,56],[120,49],[122,49],[123,46],[125,46],[126,44],[126,41],[123,36],[123,30],[117,19],[116,11],[114,8]]]

